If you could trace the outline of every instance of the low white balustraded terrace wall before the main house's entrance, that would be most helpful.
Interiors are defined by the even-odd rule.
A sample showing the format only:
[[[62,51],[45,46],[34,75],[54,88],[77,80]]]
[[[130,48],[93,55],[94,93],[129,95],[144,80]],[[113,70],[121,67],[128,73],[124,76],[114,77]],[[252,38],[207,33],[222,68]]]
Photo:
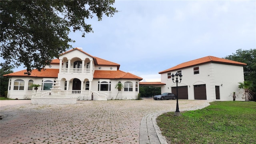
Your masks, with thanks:
[[[49,98],[56,97],[52,95],[52,91],[37,92],[32,94],[32,98]],[[77,100],[107,100],[107,94],[103,92],[94,92],[91,90],[61,90],[57,96],[64,96],[66,98],[76,98]]]

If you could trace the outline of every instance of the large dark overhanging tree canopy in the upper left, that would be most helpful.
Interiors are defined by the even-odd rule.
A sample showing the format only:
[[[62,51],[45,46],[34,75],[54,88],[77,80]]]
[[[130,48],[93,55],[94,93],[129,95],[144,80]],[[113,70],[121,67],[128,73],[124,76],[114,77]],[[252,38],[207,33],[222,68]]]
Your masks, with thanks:
[[[26,66],[41,70],[54,57],[72,48],[70,28],[82,37],[93,32],[86,19],[103,14],[113,16],[114,0],[1,0],[0,50],[5,62],[1,66]]]

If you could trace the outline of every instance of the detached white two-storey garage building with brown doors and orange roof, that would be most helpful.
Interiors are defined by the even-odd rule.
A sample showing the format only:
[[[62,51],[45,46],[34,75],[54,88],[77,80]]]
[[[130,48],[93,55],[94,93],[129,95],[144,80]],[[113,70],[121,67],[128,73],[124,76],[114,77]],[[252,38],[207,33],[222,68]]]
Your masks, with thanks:
[[[239,93],[238,82],[244,81],[245,63],[206,56],[189,62],[178,64],[159,72],[161,92],[176,94],[176,83],[172,82],[172,74],[182,74],[178,83],[178,99],[188,100],[233,100],[232,92]],[[242,100],[239,96],[237,100]]]

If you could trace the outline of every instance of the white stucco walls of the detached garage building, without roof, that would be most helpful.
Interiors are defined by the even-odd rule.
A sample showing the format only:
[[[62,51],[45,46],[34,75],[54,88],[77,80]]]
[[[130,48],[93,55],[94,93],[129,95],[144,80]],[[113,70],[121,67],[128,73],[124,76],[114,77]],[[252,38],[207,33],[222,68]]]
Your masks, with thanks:
[[[220,100],[233,100],[230,95],[232,92],[239,93],[238,82],[244,81],[244,71],[242,66],[228,64],[207,63],[199,66],[199,74],[194,74],[194,67],[182,68],[182,82],[178,86],[188,86],[188,99],[194,100],[194,85],[206,84],[207,100],[216,100],[215,86],[220,86]],[[176,74],[178,70],[172,71]],[[161,82],[166,86],[161,88],[161,92],[171,92],[176,83],[171,78],[167,78],[167,73],[161,74]],[[222,86],[221,86],[222,84]],[[239,96],[236,100],[242,100]]]

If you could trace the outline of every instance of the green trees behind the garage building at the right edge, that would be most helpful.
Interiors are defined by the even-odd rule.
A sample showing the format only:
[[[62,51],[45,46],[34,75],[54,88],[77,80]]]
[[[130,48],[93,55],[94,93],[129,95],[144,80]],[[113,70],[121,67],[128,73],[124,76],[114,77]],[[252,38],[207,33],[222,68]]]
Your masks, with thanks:
[[[244,66],[244,80],[253,82],[251,90],[254,92],[254,101],[256,101],[256,49],[238,49],[236,53],[232,53],[224,58],[247,64]]]

